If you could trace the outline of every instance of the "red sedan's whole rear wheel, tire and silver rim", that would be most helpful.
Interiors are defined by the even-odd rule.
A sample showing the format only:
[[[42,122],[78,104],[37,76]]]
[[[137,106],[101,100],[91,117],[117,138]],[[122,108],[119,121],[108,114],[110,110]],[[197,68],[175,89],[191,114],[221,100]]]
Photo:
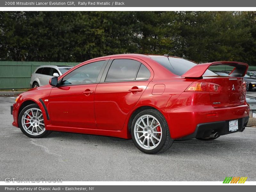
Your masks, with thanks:
[[[132,121],[131,134],[134,145],[148,154],[162,153],[173,143],[167,122],[156,109],[138,113]]]

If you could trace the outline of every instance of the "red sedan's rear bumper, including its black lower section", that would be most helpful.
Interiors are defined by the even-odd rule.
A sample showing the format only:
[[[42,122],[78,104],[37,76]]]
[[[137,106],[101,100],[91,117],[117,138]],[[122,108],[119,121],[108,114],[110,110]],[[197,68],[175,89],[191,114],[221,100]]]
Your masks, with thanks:
[[[245,103],[241,106],[224,108],[213,108],[209,105],[188,105],[162,109],[161,112],[169,126],[171,138],[180,139],[185,137],[202,138],[216,127],[220,134],[228,134],[222,129],[228,126],[228,121],[235,119],[239,119],[238,123],[241,124],[239,130],[241,130],[241,127],[248,122],[249,110],[249,105]]]

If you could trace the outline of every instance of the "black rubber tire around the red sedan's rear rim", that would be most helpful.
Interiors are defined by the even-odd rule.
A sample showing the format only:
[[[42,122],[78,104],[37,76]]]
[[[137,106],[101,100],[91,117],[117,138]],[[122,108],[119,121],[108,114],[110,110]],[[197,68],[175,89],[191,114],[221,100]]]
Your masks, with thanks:
[[[143,115],[151,115],[154,116],[158,122],[161,125],[162,128],[162,139],[159,141],[159,144],[153,148],[153,149],[144,149],[142,148],[136,141],[135,135],[134,135],[134,126],[136,121]],[[171,138],[170,131],[168,124],[162,115],[158,110],[156,109],[146,109],[138,113],[134,119],[132,120],[132,127],[131,127],[131,135],[132,135],[132,141],[134,145],[142,152],[147,154],[156,154],[156,153],[163,153],[164,151],[167,151],[173,143],[173,139]]]

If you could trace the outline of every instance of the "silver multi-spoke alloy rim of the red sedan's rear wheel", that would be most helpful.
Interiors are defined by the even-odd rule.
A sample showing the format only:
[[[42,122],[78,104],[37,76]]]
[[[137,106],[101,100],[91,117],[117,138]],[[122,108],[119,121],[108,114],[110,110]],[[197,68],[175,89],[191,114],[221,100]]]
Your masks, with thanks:
[[[151,150],[156,148],[162,139],[162,127],[156,117],[143,115],[134,125],[134,136],[140,147]]]

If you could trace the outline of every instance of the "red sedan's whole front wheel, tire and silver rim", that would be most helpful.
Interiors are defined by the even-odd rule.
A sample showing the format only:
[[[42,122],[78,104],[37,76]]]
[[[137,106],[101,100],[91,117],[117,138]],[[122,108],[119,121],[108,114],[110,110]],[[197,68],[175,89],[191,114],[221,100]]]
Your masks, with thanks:
[[[51,133],[45,130],[43,113],[36,104],[30,104],[21,110],[19,127],[25,135],[31,138],[45,137]]]

